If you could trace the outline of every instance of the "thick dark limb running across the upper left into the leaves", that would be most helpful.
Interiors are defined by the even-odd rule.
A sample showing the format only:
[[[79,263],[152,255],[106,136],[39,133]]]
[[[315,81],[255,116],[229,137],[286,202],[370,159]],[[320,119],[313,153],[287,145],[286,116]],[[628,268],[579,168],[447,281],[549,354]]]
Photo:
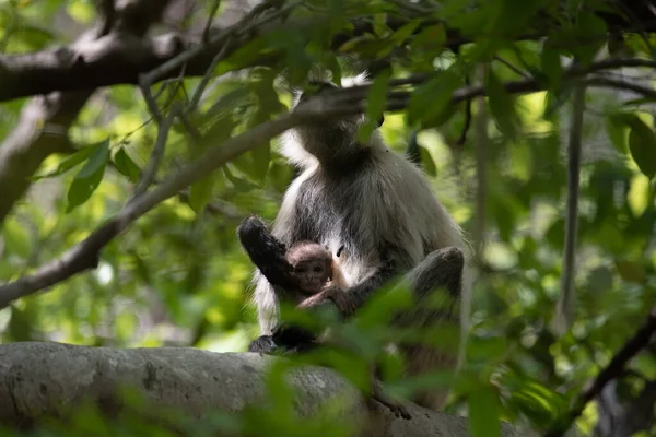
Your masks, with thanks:
[[[643,9],[648,7],[646,3],[653,2],[643,4],[624,1],[622,4],[626,5],[629,11],[641,12],[634,16],[645,17],[649,16],[649,14],[643,13]],[[607,14],[605,19],[614,28],[635,31],[635,23],[625,22],[618,15]],[[127,21],[130,24],[136,22],[138,20]],[[396,29],[406,23],[407,20],[390,17],[387,25],[391,29]],[[152,70],[172,62],[180,54],[185,55],[184,62],[187,63],[185,74],[187,76],[204,75],[219,51],[225,50],[230,54],[253,36],[263,32],[258,28],[253,28],[253,32],[242,32],[243,24],[232,26],[233,32],[221,32],[209,40],[189,38],[174,33],[155,37],[136,37],[134,33],[121,33],[110,34],[93,42],[75,43],[34,54],[3,55],[0,56],[0,102],[54,91],[93,90],[116,84],[138,84],[141,74],[150,73]],[[656,31],[656,21],[643,24],[641,29]],[[301,28],[308,24],[298,22],[293,25]],[[372,32],[371,23],[365,21],[355,23],[352,32],[336,35],[332,46],[339,47],[349,38],[370,32]],[[232,37],[229,38],[229,36]],[[539,39],[541,37],[543,37],[542,34],[535,34],[523,36],[520,39]],[[446,47],[458,47],[467,42],[468,39],[462,38],[458,32],[447,31]],[[271,62],[271,59],[262,58],[261,61],[267,64]],[[163,80],[178,76],[181,62],[177,63],[177,68],[157,72],[156,78],[150,79]],[[645,60],[643,64],[645,63],[649,63],[649,61]],[[651,61],[651,66],[654,66],[653,61]]]

